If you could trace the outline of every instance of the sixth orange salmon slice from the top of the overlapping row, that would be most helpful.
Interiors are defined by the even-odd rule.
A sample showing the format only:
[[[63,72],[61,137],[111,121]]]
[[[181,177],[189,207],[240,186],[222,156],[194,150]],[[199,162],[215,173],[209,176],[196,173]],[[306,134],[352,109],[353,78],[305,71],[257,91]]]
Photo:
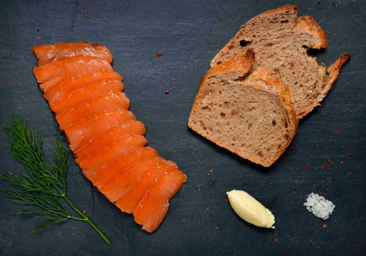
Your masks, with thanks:
[[[124,122],[135,119],[135,115],[127,110],[105,110],[69,125],[64,132],[67,140],[70,142],[71,150],[75,151],[90,138],[107,130],[109,127],[122,125]]]

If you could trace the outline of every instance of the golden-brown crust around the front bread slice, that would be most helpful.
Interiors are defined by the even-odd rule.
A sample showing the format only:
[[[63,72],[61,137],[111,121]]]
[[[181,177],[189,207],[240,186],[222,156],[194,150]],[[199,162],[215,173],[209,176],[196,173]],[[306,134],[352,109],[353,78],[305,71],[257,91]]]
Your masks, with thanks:
[[[254,56],[253,50],[248,49],[245,55],[231,57],[229,60],[211,68],[210,70],[208,70],[206,72],[206,74],[202,78],[197,95],[195,97],[195,100],[194,100],[192,108],[191,108],[190,116],[188,119],[188,127],[190,127],[192,130],[196,131],[197,133],[201,134],[203,137],[207,138],[208,140],[214,142],[215,144],[217,144],[223,148],[228,149],[229,151],[239,155],[240,157],[248,159],[251,162],[261,164],[264,167],[268,167],[268,166],[272,165],[282,155],[282,153],[285,151],[287,146],[292,141],[292,138],[295,136],[296,129],[298,127],[298,118],[297,118],[296,111],[294,108],[294,100],[292,99],[290,89],[288,88],[288,86],[282,86],[280,83],[280,79],[277,77],[272,77],[270,75],[270,72],[266,68],[262,68],[261,70],[254,71],[254,73],[251,74],[250,79],[263,80],[266,82],[266,84],[269,86],[269,88],[264,88],[263,86],[258,85],[258,84],[253,84],[253,86],[258,90],[269,92],[269,89],[270,89],[270,90],[272,90],[272,93],[276,93],[279,96],[279,98],[281,99],[280,102],[281,102],[283,108],[287,112],[287,116],[288,116],[288,120],[290,121],[290,125],[292,127],[294,127],[294,129],[291,130],[291,134],[287,140],[287,144],[281,148],[281,151],[279,151],[279,153],[277,153],[275,156],[273,156],[273,158],[271,159],[272,161],[270,161],[268,163],[264,162],[264,161],[262,162],[262,161],[258,161],[257,159],[255,159],[254,157],[252,157],[250,155],[245,155],[243,152],[240,152],[237,148],[230,146],[230,145],[224,145],[223,143],[216,140],[215,138],[208,136],[206,133],[204,133],[202,131],[201,128],[196,127],[196,125],[194,124],[193,112],[198,107],[198,104],[199,104],[198,100],[200,99],[206,79],[208,79],[209,77],[211,77],[213,75],[227,74],[227,73],[232,73],[235,71],[240,71],[240,76],[244,77],[245,75],[248,74],[250,67],[254,63],[254,60],[255,60],[255,56]]]

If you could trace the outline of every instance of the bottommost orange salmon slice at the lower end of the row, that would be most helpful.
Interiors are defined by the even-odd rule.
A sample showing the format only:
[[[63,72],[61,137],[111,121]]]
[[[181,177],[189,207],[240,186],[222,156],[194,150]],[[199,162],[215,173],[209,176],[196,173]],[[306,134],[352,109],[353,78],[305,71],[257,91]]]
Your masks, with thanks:
[[[167,214],[169,200],[184,182],[186,175],[181,171],[171,171],[158,177],[134,209],[135,222],[147,232],[156,230]]]

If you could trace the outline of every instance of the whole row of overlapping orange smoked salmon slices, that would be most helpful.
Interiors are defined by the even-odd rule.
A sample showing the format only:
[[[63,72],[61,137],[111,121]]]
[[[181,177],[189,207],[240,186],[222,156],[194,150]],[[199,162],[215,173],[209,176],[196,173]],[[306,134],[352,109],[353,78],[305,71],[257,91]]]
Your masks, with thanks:
[[[59,42],[32,47],[33,73],[83,174],[121,211],[153,232],[186,182],[177,165],[147,145],[128,111],[122,77],[104,45]]]

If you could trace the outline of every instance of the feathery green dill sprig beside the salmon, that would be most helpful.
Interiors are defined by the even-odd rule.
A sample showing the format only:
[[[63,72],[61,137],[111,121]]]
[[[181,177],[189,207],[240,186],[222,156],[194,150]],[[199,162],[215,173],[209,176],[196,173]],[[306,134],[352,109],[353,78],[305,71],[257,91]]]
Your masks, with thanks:
[[[46,163],[42,152],[42,134],[40,131],[27,129],[19,119],[12,116],[10,123],[4,126],[5,134],[10,140],[7,146],[11,155],[18,160],[24,171],[1,174],[0,178],[9,182],[10,189],[0,190],[12,200],[27,204],[29,211],[17,214],[35,214],[44,222],[40,223],[33,232],[67,219],[86,221],[98,234],[111,245],[108,238],[94,225],[93,222],[66,196],[66,171],[69,150],[61,145],[61,138],[56,137],[53,143],[54,162]],[[68,210],[60,203],[64,199],[81,218],[71,216]]]

